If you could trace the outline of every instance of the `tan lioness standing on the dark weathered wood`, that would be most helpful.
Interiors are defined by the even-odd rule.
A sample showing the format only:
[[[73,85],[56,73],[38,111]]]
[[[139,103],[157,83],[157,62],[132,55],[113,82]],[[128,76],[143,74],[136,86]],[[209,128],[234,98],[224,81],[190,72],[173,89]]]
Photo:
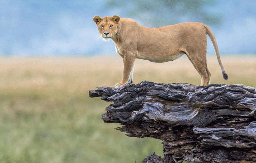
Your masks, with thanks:
[[[208,85],[211,73],[206,65],[206,46],[209,35],[216,52],[224,79],[228,79],[212,30],[203,23],[180,23],[158,28],[140,26],[136,21],[119,16],[94,16],[104,40],[115,42],[116,52],[123,58],[123,79],[116,88],[133,82],[136,58],[162,63],[173,61],[186,54],[201,76],[201,85]]]

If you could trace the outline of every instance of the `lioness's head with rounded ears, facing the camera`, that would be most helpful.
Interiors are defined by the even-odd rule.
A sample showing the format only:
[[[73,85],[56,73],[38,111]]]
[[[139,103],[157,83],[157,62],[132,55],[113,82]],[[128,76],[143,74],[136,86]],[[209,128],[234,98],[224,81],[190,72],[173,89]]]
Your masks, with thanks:
[[[94,16],[93,21],[96,23],[98,30],[104,40],[116,37],[117,25],[120,21],[120,16],[106,16],[103,18],[100,16]]]

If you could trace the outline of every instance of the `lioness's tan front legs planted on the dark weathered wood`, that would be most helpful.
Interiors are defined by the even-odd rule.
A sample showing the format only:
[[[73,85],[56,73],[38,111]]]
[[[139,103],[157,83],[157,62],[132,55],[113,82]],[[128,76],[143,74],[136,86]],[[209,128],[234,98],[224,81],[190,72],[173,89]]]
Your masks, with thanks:
[[[134,61],[135,61],[135,55],[133,54],[127,54],[124,55],[123,58],[123,78],[120,83],[117,83],[115,85],[116,88],[119,88],[123,84],[127,82],[133,82],[133,69],[134,69]]]

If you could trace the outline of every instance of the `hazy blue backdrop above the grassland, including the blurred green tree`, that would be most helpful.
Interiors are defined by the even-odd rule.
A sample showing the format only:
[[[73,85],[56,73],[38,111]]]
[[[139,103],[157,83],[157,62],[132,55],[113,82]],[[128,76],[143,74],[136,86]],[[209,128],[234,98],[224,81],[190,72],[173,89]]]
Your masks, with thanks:
[[[255,54],[255,8],[255,0],[1,0],[0,54],[113,54],[114,43],[98,39],[95,15],[129,17],[147,27],[202,22],[215,33],[221,54]]]

